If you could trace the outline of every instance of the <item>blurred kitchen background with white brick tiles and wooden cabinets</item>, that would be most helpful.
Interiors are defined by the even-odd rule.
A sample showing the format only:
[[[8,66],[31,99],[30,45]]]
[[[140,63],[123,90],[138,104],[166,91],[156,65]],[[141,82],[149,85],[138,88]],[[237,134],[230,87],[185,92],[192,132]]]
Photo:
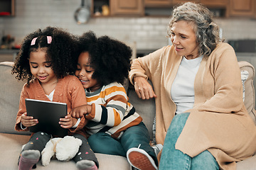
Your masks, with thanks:
[[[246,56],[255,54],[255,0],[194,1],[213,11],[215,22],[221,28],[220,34],[225,42],[233,45],[236,52]],[[166,27],[171,10],[183,2],[0,0],[0,54],[16,52],[24,36],[38,28],[57,26],[75,35],[81,35],[87,30],[93,30],[97,35],[109,35],[126,42],[134,49],[134,57],[140,57],[169,44]]]

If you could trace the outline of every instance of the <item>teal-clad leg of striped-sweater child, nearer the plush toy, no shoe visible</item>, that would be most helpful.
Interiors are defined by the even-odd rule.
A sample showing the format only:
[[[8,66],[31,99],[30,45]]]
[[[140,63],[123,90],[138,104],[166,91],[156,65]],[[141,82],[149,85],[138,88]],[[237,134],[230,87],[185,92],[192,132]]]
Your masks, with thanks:
[[[88,138],[88,142],[95,153],[126,157],[126,151],[124,151],[120,142],[105,132],[97,132],[96,134],[91,135]]]

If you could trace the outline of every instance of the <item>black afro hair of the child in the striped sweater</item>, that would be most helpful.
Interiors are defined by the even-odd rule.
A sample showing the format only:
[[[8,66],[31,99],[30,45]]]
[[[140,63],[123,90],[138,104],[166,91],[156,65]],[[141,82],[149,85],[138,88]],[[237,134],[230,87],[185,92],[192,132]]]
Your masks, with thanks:
[[[90,67],[95,69],[92,79],[102,85],[124,83],[131,67],[132,49],[129,46],[107,35],[97,38],[92,31],[83,33],[78,44],[80,53],[89,53]]]

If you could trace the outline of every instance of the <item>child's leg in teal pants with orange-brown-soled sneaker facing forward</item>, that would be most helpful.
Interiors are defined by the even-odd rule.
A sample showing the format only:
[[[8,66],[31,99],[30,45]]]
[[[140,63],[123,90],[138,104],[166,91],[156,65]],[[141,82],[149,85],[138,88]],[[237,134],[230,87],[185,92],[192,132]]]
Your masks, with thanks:
[[[137,169],[156,169],[158,165],[149,140],[149,132],[144,123],[128,128],[121,137],[121,144],[127,151],[127,159]]]

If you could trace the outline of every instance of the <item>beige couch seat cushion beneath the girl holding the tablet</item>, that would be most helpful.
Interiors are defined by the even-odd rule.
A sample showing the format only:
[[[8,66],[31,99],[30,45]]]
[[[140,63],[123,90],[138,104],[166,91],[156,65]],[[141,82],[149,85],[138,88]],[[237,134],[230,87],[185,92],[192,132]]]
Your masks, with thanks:
[[[21,146],[28,142],[28,135],[12,135],[0,133],[0,169],[18,169],[18,155],[21,152]],[[132,167],[127,162],[125,157],[109,155],[109,154],[96,154],[96,157],[102,170],[131,170]],[[36,170],[63,170],[63,169],[77,169],[75,162],[60,162],[56,159],[50,161],[48,166],[43,166],[41,161],[38,162]],[[99,169],[99,170],[100,170]]]

